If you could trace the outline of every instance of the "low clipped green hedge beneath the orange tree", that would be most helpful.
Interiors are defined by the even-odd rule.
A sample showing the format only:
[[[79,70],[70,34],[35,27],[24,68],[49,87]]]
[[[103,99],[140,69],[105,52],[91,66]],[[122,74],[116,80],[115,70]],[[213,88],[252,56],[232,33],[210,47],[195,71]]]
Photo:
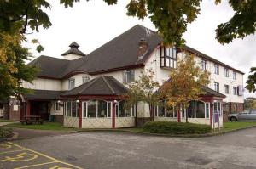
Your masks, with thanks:
[[[209,125],[183,122],[150,121],[143,125],[143,132],[160,134],[204,134],[211,131]]]

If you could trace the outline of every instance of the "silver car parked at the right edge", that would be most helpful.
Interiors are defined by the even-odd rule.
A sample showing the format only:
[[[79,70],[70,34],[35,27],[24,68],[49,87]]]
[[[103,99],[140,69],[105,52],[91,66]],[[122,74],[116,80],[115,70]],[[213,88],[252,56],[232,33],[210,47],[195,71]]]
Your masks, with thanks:
[[[230,121],[256,121],[256,110],[244,110],[228,116]]]

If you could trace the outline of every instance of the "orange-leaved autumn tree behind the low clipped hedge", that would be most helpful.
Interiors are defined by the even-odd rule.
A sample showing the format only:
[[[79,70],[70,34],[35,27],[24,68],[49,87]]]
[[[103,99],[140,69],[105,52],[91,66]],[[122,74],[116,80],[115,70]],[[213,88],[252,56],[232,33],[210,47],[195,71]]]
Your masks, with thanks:
[[[191,100],[198,100],[203,94],[201,85],[207,85],[210,73],[196,65],[195,56],[186,54],[172,69],[170,79],[160,87],[160,96],[166,99],[167,106],[177,106],[177,118],[180,122],[180,110],[189,107]],[[188,111],[186,111],[188,122]]]

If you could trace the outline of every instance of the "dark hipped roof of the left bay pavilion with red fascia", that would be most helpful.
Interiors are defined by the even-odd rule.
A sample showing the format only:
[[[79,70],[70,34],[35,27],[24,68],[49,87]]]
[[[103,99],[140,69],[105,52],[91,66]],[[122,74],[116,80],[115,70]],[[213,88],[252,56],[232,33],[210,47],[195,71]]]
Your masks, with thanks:
[[[128,89],[113,76],[99,76],[90,82],[62,93],[61,96],[74,95],[124,95]]]

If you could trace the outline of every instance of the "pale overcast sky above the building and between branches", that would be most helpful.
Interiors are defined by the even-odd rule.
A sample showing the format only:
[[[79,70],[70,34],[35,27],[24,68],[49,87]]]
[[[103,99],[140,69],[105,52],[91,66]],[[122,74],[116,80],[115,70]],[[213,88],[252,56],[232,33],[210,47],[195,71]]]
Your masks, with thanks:
[[[150,20],[137,20],[126,15],[127,2],[119,0],[117,5],[108,6],[102,0],[82,1],[75,3],[73,8],[64,8],[59,1],[53,0],[51,9],[47,10],[53,25],[28,38],[38,38],[45,48],[41,54],[61,58],[61,54],[67,51],[73,41],[79,43],[79,49],[84,54],[89,54],[133,25],[144,25],[155,31]],[[214,30],[217,25],[228,21],[232,14],[234,12],[228,3],[223,1],[215,5],[214,0],[204,0],[201,3],[201,15],[189,25],[183,37],[188,46],[245,72],[245,82],[249,68],[256,65],[256,36],[235,40],[224,46],[215,40]],[[41,55],[32,46],[29,47],[36,57]],[[246,97],[249,95],[256,97],[256,94],[246,93]]]

